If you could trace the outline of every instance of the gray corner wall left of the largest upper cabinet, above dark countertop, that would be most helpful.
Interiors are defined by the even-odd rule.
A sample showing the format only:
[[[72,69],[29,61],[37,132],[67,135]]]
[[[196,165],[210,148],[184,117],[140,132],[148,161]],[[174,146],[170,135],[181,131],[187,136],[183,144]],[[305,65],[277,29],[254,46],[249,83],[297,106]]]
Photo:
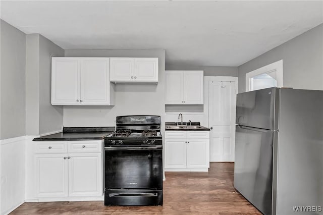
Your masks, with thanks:
[[[26,50],[26,134],[59,131],[63,106],[50,104],[51,57],[64,57],[64,49],[40,34],[28,34]]]

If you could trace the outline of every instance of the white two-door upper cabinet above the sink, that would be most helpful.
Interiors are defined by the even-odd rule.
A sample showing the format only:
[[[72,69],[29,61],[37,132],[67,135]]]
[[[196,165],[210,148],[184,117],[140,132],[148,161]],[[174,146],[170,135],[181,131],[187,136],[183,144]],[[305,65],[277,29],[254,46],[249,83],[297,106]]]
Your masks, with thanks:
[[[203,71],[166,71],[166,104],[203,104]]]

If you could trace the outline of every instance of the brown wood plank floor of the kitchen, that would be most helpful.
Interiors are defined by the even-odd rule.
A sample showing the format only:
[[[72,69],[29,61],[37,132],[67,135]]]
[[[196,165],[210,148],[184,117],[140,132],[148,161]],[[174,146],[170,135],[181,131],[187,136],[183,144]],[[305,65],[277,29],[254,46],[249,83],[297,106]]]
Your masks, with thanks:
[[[24,203],[10,214],[261,214],[233,187],[233,163],[208,173],[167,172],[163,206],[104,206],[103,201]]]

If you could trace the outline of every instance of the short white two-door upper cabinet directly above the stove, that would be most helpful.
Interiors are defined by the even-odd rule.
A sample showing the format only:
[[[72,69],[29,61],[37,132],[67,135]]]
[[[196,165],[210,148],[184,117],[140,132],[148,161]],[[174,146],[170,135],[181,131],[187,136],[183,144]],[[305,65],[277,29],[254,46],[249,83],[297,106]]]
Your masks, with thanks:
[[[158,82],[158,58],[110,58],[110,81]]]

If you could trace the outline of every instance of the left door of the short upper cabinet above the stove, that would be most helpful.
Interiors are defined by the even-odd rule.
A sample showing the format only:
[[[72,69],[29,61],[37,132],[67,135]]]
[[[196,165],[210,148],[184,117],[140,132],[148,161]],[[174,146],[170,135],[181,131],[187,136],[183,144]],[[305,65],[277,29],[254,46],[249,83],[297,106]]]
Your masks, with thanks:
[[[133,58],[110,58],[110,81],[133,81]]]

